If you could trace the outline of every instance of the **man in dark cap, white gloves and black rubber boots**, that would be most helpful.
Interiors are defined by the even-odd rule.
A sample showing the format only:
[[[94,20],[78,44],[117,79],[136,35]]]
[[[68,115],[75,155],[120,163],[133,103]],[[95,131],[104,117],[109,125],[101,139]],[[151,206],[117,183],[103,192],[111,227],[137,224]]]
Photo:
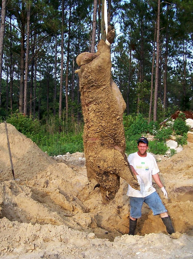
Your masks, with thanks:
[[[145,202],[153,211],[153,215],[160,214],[166,230],[169,234],[174,233],[174,228],[167,210],[163,205],[158,193],[152,186],[152,177],[161,188],[165,198],[168,198],[167,192],[161,183],[158,172],[159,168],[155,158],[147,153],[148,140],[141,137],[137,141],[138,151],[128,156],[131,170],[136,175],[140,185],[140,191],[133,189],[128,185],[127,195],[130,199],[130,217],[129,217],[129,235],[134,235],[137,226],[137,219],[141,217],[143,202]]]

